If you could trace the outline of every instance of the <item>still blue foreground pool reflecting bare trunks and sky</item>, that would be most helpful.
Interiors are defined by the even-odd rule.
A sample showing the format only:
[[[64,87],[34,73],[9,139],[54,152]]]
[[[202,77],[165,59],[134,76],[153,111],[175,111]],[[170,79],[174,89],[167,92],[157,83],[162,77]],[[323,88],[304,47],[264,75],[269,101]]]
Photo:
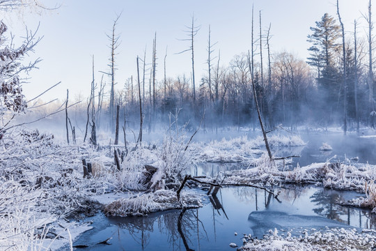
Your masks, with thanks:
[[[113,237],[111,245],[83,250],[224,250],[242,244],[242,234],[261,238],[269,229],[375,228],[369,211],[339,206],[357,196],[316,187],[281,190],[279,199],[256,188],[221,188],[203,208],[152,213],[148,217],[93,218],[95,229],[74,245]],[[235,231],[239,235],[235,236]]]

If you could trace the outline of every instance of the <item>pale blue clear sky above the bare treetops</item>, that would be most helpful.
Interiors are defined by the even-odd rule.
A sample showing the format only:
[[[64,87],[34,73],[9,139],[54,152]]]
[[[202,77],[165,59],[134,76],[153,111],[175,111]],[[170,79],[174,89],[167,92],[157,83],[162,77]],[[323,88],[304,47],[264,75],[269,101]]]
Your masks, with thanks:
[[[146,62],[152,60],[152,40],[157,33],[157,80],[164,77],[164,56],[168,77],[191,75],[191,54],[185,52],[189,42],[186,26],[192,15],[200,30],[194,40],[196,83],[207,73],[207,36],[211,29],[214,55],[221,53],[221,65],[227,66],[236,54],[251,48],[251,12],[255,14],[255,36],[258,36],[259,11],[262,30],[266,33],[271,24],[270,46],[273,54],[287,51],[301,59],[308,56],[306,41],[324,13],[336,16],[334,0],[45,0],[46,6],[61,4],[57,10],[38,15],[24,11],[0,13],[3,22],[20,43],[25,35],[25,25],[43,37],[35,53],[25,60],[42,59],[38,68],[30,73],[28,83],[23,85],[24,95],[31,99],[61,82],[42,96],[45,101],[64,100],[66,89],[72,100],[90,95],[92,81],[92,56],[95,59],[95,79],[109,72],[109,39],[113,20],[120,15],[116,33],[120,46],[116,55],[116,89],[122,89],[131,76],[136,79],[136,56]],[[376,13],[373,6],[373,12]],[[353,36],[354,19],[359,22],[359,36],[366,34],[366,22],[361,13],[368,12],[368,0],[340,0],[340,15],[345,24],[347,38]],[[376,32],[376,31],[375,31]],[[10,33],[7,35],[10,36]],[[110,79],[104,76],[109,90]]]

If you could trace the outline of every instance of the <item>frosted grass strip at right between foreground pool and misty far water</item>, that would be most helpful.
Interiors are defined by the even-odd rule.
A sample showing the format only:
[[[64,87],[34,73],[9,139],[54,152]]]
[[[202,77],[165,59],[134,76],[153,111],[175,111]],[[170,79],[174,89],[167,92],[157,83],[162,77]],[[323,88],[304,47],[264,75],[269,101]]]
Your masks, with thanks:
[[[345,165],[340,162],[313,163],[292,170],[282,170],[267,155],[258,159],[256,167],[226,172],[225,183],[315,183],[325,188],[365,192],[366,182],[376,179],[376,167],[368,164]],[[369,187],[369,185],[368,185]]]

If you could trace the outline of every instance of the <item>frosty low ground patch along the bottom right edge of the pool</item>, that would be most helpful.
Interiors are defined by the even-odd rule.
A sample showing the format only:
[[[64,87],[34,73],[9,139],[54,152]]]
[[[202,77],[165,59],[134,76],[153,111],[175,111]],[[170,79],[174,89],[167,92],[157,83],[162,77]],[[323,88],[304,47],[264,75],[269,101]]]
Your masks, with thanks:
[[[374,250],[375,231],[359,233],[357,229],[327,229],[325,231],[301,231],[300,236],[280,236],[271,231],[263,239],[246,236],[240,251],[300,251],[300,250]]]

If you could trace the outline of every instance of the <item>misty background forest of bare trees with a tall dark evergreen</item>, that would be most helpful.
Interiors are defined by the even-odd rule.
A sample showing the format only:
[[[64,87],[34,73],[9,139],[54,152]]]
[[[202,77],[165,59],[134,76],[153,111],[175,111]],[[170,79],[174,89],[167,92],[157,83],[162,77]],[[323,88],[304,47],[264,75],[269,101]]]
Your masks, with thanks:
[[[70,126],[66,127],[68,130],[78,128],[86,135],[88,127],[95,123],[96,128],[115,132],[116,107],[119,106],[120,125],[125,129],[138,130],[142,114],[144,130],[152,132],[160,124],[168,125],[169,114],[176,111],[180,111],[180,121],[189,121],[187,128],[196,128],[200,123],[206,131],[225,127],[255,128],[258,116],[252,82],[267,128],[280,124],[291,130],[306,125],[341,126],[343,130],[357,131],[361,126],[374,127],[371,1],[368,12],[360,17],[367,21],[367,30],[357,31],[357,20],[354,20],[352,29],[346,27],[346,32],[342,33],[338,19],[340,9],[337,15],[324,13],[307,34],[311,45],[307,48],[308,59],[286,51],[272,51],[272,24],[265,30],[262,11],[250,10],[250,14],[250,50],[233,56],[230,62],[221,61],[217,41],[210,38],[210,26],[196,24],[196,17],[192,16],[191,23],[185,27],[187,37],[181,42],[187,43],[187,50],[180,52],[191,55],[191,75],[169,77],[166,74],[169,56],[167,51],[157,52],[155,33],[151,54],[145,51],[134,60],[137,73],[125,81],[116,78],[116,72],[122,70],[116,68],[116,59],[122,56],[118,52],[120,35],[116,25],[120,16],[117,16],[108,34],[109,68],[95,69],[93,56],[93,81],[88,83],[92,89],[90,97],[67,96],[69,101],[64,101],[67,106],[81,102],[68,109]],[[205,66],[196,66],[194,61],[198,32],[207,33]],[[195,77],[197,67],[204,67],[206,74]],[[43,105],[41,100],[28,102],[29,112],[18,121],[32,121],[54,113],[60,105],[58,102]],[[56,115],[54,123],[61,125],[64,119]]]

